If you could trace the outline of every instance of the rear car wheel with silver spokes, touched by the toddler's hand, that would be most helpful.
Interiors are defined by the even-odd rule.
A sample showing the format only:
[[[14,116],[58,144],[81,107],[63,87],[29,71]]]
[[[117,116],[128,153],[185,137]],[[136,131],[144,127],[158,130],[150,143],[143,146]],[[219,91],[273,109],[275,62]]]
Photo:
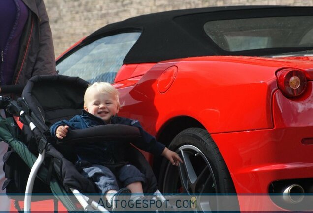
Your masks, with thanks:
[[[218,194],[235,193],[229,171],[210,134],[201,128],[188,128],[172,140],[169,149],[184,161],[178,167],[164,159],[160,188],[163,193]],[[218,197],[218,196],[213,196]],[[215,210],[219,199],[197,199],[198,210]]]

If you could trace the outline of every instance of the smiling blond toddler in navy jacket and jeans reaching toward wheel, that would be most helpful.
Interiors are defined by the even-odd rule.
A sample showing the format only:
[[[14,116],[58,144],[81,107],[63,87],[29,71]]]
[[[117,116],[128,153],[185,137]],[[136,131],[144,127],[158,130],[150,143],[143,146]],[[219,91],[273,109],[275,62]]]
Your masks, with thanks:
[[[142,140],[132,142],[136,147],[155,155],[163,155],[173,165],[183,162],[176,152],[166,148],[147,133],[137,120],[117,116],[121,107],[119,92],[110,83],[99,82],[89,86],[84,96],[84,110],[70,120],[62,120],[50,127],[58,139],[66,137],[70,129],[83,129],[96,125],[125,124],[139,128]],[[81,174],[91,178],[110,204],[121,193],[133,193],[131,199],[143,196],[144,175],[123,159],[125,146],[114,142],[86,143],[73,147],[78,156],[76,165]],[[117,178],[125,188],[119,189]]]

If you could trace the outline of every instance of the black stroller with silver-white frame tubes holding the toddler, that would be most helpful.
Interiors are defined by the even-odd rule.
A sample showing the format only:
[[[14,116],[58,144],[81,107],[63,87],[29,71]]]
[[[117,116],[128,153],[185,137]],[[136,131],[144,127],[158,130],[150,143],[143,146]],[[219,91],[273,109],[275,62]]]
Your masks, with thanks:
[[[40,200],[40,196],[33,198],[31,195],[52,193],[54,200],[60,200],[68,211],[108,212],[88,197],[98,194],[98,191],[93,182],[76,170],[73,164],[76,155],[70,148],[75,143],[107,140],[129,144],[126,157],[145,174],[144,192],[165,201],[157,189],[157,180],[149,163],[130,145],[131,141],[140,139],[138,128],[107,124],[71,130],[63,141],[51,136],[51,124],[81,113],[87,87],[88,82],[78,77],[42,75],[28,81],[17,101],[0,98],[0,108],[12,115],[0,118],[0,139],[9,144],[3,158],[7,178],[3,188],[6,188],[9,198],[16,200],[17,210],[21,210],[17,202],[21,196],[16,198],[16,193],[23,193],[24,211],[31,210],[31,201]],[[56,203],[55,211],[58,208]]]

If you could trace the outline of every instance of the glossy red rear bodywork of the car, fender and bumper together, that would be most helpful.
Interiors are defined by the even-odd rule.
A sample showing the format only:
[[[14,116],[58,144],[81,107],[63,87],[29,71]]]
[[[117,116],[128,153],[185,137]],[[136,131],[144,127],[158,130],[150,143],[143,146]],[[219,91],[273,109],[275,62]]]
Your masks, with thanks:
[[[127,66],[136,65],[124,65],[121,79]],[[160,93],[158,79],[171,66],[178,68],[175,80]],[[236,192],[267,193],[275,180],[313,177],[313,145],[301,143],[313,138],[312,81],[297,100],[276,84],[275,72],[294,66],[285,59],[223,56],[160,62],[142,78],[115,84],[126,103],[120,115],[140,120],[156,137],[175,117],[196,119],[219,147]],[[297,66],[312,79],[312,62]],[[197,88],[186,89],[191,85]]]

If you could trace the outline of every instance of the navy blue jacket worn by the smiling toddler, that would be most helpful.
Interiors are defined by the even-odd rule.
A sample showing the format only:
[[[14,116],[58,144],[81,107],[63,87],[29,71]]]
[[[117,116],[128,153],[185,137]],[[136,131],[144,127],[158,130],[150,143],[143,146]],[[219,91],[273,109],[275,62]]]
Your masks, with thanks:
[[[76,115],[70,120],[62,120],[58,121],[50,127],[50,131],[52,136],[56,137],[56,130],[58,126],[67,125],[70,129],[84,129],[97,125],[106,125],[101,118],[96,117],[87,111],[83,110],[81,115]],[[137,140],[132,142],[134,146],[137,148],[150,152],[154,155],[161,155],[162,151],[165,148],[165,145],[156,141],[156,138],[147,133],[139,121],[132,120],[129,118],[123,118],[118,116],[113,116],[111,118],[110,124],[124,124],[129,126],[135,126],[139,129],[141,133],[142,140]],[[70,131],[70,130],[69,130]],[[79,145],[75,145],[73,147],[74,151],[77,153],[80,159],[86,160],[92,163],[111,163],[112,156],[111,155],[123,155],[125,149],[127,149],[126,144],[118,144],[115,142],[103,142],[103,143],[80,143]],[[124,149],[124,150],[122,150]],[[114,151],[113,151],[114,150]],[[121,151],[122,150],[122,151]],[[115,162],[117,163],[115,158]],[[118,160],[119,161],[119,160]]]

